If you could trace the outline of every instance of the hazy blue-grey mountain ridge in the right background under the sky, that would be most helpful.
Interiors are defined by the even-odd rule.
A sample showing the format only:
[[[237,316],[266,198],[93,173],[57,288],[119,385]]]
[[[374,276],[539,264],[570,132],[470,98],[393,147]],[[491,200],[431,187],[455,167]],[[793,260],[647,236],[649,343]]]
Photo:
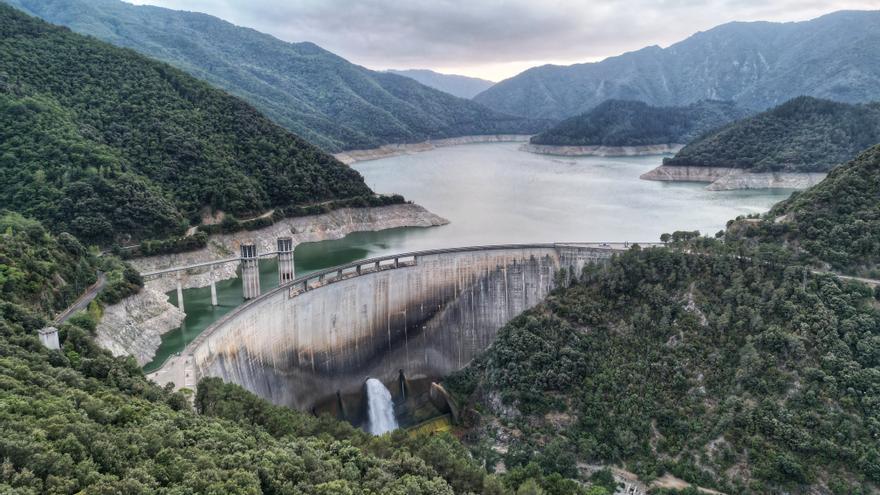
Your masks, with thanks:
[[[880,11],[805,22],[733,22],[668,48],[597,63],[529,69],[474,101],[499,112],[563,119],[608,99],[650,105],[729,100],[763,110],[800,95],[850,103],[880,99]]]

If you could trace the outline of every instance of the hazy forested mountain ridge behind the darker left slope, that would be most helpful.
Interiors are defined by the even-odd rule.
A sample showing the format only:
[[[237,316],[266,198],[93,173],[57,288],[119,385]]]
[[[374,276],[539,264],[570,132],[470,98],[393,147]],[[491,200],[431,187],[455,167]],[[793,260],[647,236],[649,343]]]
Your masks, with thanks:
[[[410,78],[354,65],[312,43],[287,43],[205,14],[119,0],[6,1],[175,65],[328,151],[542,129]]]

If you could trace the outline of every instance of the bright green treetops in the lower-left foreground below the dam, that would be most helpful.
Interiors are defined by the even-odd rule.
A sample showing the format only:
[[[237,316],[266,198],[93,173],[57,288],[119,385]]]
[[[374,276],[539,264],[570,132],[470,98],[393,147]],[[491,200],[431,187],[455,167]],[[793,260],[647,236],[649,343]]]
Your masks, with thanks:
[[[37,330],[103,261],[16,214],[0,227],[0,493],[510,493],[449,435],[374,438],[216,379],[194,412],[99,349],[90,315],[47,350]]]

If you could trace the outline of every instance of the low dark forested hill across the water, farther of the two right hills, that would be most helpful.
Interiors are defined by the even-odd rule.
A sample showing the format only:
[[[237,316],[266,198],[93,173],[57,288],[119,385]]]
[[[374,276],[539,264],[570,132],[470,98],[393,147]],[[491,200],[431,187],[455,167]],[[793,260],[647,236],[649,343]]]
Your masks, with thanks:
[[[531,142],[554,146],[683,144],[748,113],[724,101],[654,107],[640,101],[607,100],[532,137]]]

